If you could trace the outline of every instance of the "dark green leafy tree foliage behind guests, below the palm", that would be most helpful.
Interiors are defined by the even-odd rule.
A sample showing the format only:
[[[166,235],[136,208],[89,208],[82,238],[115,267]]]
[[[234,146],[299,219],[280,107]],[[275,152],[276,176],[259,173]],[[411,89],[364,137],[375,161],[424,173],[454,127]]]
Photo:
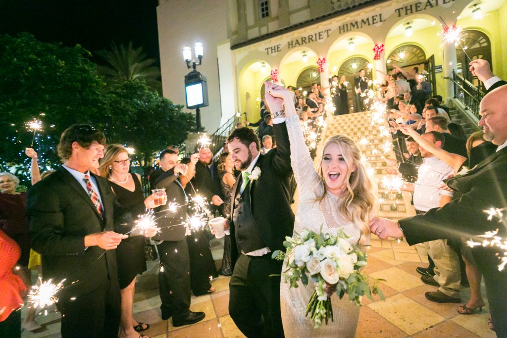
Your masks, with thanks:
[[[56,145],[75,123],[102,128],[108,142],[133,146],[145,165],[167,145],[182,143],[193,116],[152,90],[143,80],[106,85],[90,53],[80,46],[42,43],[28,33],[0,35],[0,163],[15,167],[27,181],[24,155],[33,131],[26,123],[40,118],[33,147],[42,170],[59,163]],[[42,113],[42,115],[41,115]]]

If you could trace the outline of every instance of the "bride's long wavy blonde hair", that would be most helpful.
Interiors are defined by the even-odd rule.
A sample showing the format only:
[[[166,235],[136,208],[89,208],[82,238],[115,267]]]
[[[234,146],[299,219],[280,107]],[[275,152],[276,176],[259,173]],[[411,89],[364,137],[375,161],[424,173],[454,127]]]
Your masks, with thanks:
[[[361,162],[361,151],[357,143],[347,135],[338,134],[329,137],[319,152],[317,173],[323,189],[322,195],[317,196],[316,201],[322,201],[325,194],[328,194],[322,173],[322,157],[325,148],[331,143],[338,145],[348,168],[345,180],[347,189],[342,197],[340,213],[354,222],[361,231],[359,243],[368,244],[370,242],[370,218],[378,210],[377,185],[372,182],[366,172],[365,165]],[[356,169],[352,172],[354,167]]]

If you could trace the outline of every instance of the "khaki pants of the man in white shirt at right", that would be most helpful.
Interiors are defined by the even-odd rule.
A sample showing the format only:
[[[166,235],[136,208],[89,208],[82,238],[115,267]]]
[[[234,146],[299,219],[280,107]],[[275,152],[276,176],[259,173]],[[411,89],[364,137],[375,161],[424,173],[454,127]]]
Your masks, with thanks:
[[[440,292],[459,298],[461,271],[456,252],[447,245],[446,239],[424,242],[424,246],[435,264],[433,278],[439,283]]]

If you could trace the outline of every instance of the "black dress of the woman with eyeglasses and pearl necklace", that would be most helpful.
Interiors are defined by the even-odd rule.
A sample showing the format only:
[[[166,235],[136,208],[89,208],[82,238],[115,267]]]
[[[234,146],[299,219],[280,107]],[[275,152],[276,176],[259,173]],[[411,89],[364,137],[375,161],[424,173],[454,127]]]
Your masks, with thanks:
[[[109,184],[116,194],[118,202],[125,207],[136,205],[139,204],[139,202],[144,201],[139,179],[135,174],[130,175],[132,175],[135,185],[135,190],[133,192],[125,189],[123,186],[118,185],[115,182],[109,181]],[[143,210],[138,210],[138,212],[141,213]],[[136,217],[137,214],[132,216]],[[120,282],[121,289],[129,286],[137,275],[141,275],[147,270],[146,260],[144,260],[145,240],[146,238],[144,236],[132,236],[122,240],[120,245],[116,248],[118,280]]]

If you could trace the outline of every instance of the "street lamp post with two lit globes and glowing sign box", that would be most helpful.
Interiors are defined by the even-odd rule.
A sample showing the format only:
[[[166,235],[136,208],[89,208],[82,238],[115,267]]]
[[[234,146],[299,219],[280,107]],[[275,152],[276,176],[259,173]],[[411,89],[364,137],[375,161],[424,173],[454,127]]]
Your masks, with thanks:
[[[208,93],[206,77],[197,71],[197,66],[202,63],[204,48],[201,42],[197,41],[194,45],[194,53],[198,61],[192,59],[192,49],[188,46],[183,48],[183,59],[187,68],[193,70],[185,76],[185,94],[187,97],[187,108],[195,108],[195,119],[197,131],[201,130],[201,110],[200,107],[208,105]]]

